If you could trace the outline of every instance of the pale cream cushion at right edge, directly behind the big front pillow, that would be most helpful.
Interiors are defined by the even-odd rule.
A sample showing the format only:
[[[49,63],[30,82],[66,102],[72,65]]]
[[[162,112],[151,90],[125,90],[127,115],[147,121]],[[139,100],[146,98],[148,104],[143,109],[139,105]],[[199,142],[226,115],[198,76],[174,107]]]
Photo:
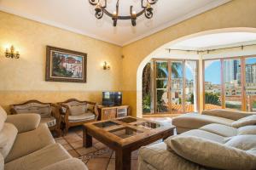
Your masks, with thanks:
[[[225,143],[225,145],[240,150],[251,150],[256,148],[256,135],[237,135]]]

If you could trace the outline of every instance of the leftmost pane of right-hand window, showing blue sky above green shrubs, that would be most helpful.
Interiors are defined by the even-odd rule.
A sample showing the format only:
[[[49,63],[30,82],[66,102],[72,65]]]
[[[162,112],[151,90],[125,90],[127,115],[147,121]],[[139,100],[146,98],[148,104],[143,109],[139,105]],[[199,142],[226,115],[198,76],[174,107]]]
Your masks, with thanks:
[[[220,59],[205,60],[205,109],[221,108]]]

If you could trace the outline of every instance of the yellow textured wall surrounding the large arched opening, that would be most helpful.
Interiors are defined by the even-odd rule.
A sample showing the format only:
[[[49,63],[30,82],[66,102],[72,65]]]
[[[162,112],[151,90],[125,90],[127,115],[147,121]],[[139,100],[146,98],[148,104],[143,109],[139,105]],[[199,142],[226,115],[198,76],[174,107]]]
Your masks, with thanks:
[[[256,28],[255,8],[255,0],[233,0],[230,3],[125,46],[122,49],[125,56],[125,59],[123,59],[122,87],[124,102],[127,105],[131,105],[133,114],[135,115],[137,112],[137,68],[148,54],[167,42],[201,31],[232,27]]]

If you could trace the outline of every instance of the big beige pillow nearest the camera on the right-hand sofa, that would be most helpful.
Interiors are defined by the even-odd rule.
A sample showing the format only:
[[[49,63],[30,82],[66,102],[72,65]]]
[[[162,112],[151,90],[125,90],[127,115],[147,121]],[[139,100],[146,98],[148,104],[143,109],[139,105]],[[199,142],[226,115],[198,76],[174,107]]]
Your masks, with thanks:
[[[177,136],[168,145],[177,155],[202,166],[219,169],[253,170],[256,155],[208,139]]]

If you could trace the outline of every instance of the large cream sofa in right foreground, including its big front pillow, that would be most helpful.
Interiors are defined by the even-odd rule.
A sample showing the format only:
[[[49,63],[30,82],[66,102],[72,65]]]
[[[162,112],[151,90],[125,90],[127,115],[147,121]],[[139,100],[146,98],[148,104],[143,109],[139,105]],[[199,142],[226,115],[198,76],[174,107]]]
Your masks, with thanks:
[[[256,169],[256,117],[239,128],[209,124],[139,150],[139,170]],[[254,125],[250,125],[250,124]],[[242,123],[240,122],[240,125]]]

